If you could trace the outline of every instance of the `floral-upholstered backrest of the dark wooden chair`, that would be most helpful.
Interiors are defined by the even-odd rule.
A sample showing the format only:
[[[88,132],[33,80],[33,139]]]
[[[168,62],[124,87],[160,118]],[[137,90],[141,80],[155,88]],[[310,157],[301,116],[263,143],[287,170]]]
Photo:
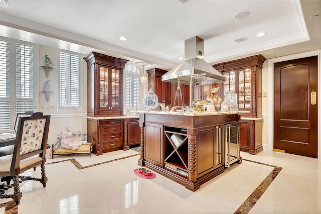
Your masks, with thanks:
[[[46,161],[46,148],[50,124],[50,115],[43,116],[41,112],[33,113],[30,117],[21,117],[11,165],[11,173],[21,172],[21,161],[35,156],[38,161],[31,162],[29,168]]]

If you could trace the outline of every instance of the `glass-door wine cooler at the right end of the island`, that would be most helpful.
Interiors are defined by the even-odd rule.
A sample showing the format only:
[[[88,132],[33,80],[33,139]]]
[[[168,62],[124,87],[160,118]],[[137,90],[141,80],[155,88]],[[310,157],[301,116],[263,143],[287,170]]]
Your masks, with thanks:
[[[225,167],[239,160],[239,123],[225,125]]]

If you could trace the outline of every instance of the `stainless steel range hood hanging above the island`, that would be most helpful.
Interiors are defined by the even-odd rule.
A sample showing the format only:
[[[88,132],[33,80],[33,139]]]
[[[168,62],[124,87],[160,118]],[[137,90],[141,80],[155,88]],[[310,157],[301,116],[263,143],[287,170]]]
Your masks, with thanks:
[[[162,81],[204,85],[216,82],[224,82],[225,77],[204,61],[204,40],[192,37],[185,40],[185,61],[162,76]]]

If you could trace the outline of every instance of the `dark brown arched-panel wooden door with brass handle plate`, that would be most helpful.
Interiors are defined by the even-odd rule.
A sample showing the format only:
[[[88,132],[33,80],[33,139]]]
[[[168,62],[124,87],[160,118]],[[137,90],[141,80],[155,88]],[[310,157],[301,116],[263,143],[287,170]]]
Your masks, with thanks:
[[[317,158],[317,56],[274,64],[274,149]]]

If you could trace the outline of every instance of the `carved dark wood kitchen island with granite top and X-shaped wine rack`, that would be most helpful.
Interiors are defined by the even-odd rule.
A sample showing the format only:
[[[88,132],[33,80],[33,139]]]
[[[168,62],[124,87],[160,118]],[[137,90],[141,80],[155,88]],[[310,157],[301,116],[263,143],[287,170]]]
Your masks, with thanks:
[[[141,153],[138,165],[195,191],[224,172],[228,164],[224,142],[231,140],[231,135],[225,133],[231,124],[237,124],[234,162],[242,162],[238,146],[240,116],[241,112],[142,111],[139,114]]]

